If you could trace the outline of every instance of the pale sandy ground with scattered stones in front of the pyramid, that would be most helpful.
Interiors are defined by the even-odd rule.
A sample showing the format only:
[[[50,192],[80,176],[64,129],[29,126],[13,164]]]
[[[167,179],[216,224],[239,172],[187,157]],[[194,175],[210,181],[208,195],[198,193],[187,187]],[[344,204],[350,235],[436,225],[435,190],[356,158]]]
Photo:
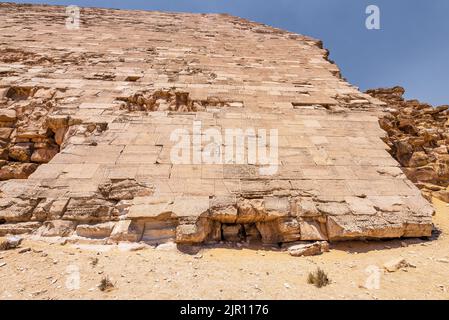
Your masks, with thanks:
[[[348,242],[315,257],[248,248],[122,251],[24,241],[0,252],[0,299],[448,299],[449,205],[435,200],[439,236]],[[31,250],[20,253],[21,249]],[[405,258],[393,273],[384,263]],[[307,283],[317,267],[331,284]],[[110,291],[97,285],[103,277]]]

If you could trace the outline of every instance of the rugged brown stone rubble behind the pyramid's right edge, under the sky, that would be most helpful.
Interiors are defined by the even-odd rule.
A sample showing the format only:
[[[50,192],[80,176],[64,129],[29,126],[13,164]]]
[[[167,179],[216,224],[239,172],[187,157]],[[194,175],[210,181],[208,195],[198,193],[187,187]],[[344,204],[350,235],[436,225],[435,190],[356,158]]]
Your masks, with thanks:
[[[405,100],[401,87],[367,93],[387,103],[380,125],[387,132],[390,153],[405,175],[426,199],[436,197],[449,203],[449,105],[432,107]]]

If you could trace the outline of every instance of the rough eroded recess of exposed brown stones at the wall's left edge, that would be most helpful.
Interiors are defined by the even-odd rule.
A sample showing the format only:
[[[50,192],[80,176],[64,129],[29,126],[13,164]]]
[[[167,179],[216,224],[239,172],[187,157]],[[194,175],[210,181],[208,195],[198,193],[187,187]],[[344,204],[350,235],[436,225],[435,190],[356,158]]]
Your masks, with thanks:
[[[57,92],[44,87],[0,88],[0,181],[28,178],[77,133],[71,126],[79,121],[55,112]]]

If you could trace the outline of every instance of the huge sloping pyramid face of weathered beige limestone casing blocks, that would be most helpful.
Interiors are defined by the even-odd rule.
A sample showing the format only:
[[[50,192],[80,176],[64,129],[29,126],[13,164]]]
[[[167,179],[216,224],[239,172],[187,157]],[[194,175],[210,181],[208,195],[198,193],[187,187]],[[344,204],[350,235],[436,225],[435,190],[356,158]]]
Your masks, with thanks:
[[[81,9],[76,29],[64,7],[0,14],[0,236],[430,236],[432,207],[382,141],[385,104],[321,42],[228,15]]]

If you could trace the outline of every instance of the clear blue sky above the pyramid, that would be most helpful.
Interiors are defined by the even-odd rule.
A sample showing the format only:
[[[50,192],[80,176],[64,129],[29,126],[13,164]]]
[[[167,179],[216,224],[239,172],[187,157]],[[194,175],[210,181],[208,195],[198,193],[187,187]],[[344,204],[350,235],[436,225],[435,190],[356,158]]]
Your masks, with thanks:
[[[362,90],[401,85],[407,98],[449,104],[448,0],[15,2],[229,13],[323,40],[343,76]],[[365,28],[365,9],[370,4],[380,8],[380,30]]]

